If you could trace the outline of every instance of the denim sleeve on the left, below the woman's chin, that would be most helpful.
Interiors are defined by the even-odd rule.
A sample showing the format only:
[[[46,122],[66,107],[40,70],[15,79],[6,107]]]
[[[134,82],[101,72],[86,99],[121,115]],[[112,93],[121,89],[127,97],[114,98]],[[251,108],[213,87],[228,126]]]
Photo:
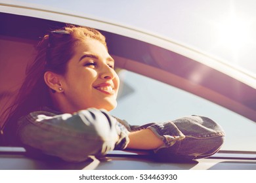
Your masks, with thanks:
[[[123,149],[129,142],[127,129],[105,110],[49,113],[32,112],[18,122],[18,138],[28,150],[65,161],[84,161],[89,155]]]

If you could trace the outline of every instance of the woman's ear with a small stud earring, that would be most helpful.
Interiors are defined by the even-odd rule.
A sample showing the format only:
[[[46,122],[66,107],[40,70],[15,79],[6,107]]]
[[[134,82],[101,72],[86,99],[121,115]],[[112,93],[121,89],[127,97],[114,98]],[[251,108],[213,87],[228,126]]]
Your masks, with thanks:
[[[44,75],[45,84],[51,88],[52,92],[63,92],[62,85],[60,82],[60,76],[51,71],[46,71]]]

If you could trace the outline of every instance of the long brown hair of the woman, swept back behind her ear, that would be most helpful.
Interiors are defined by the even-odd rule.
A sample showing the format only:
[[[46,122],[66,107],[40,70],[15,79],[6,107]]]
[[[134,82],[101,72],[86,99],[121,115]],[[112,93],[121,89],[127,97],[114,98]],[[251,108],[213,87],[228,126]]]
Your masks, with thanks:
[[[106,39],[99,31],[75,25],[51,31],[39,42],[38,54],[26,71],[26,78],[17,91],[16,99],[1,116],[1,119],[7,119],[1,133],[8,142],[15,141],[16,126],[21,116],[43,107],[53,107],[49,88],[43,79],[44,73],[52,71],[64,75],[68,61],[74,56],[74,47],[87,38],[96,39],[106,46]]]

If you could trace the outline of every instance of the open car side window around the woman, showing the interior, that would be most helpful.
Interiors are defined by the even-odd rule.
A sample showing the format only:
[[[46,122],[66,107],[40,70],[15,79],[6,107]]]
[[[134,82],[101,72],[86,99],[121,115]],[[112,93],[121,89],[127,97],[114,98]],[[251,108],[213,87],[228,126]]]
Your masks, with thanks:
[[[35,45],[62,22],[1,13],[1,107],[20,86]],[[16,31],[18,26],[20,31]],[[111,113],[131,125],[175,120],[192,114],[223,126],[222,150],[256,151],[256,90],[203,63],[166,48],[102,31],[121,78],[118,105]],[[3,110],[2,110],[3,111]],[[3,126],[1,121],[0,125]]]

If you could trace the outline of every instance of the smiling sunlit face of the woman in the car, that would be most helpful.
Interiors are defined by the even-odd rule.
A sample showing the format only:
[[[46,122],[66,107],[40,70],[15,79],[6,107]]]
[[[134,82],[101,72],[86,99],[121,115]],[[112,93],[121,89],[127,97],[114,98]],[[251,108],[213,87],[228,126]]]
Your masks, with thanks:
[[[68,62],[67,72],[62,78],[62,92],[69,108],[116,107],[119,77],[114,71],[114,59],[105,46],[95,40],[86,39],[75,46],[75,54]]]

